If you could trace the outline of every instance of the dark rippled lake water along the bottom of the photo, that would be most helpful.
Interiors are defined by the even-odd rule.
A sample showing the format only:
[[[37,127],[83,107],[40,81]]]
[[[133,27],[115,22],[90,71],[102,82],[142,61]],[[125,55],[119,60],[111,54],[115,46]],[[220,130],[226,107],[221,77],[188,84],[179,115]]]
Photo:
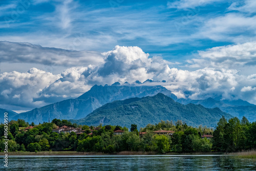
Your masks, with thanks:
[[[1,156],[0,170],[256,170],[256,159],[219,155]]]

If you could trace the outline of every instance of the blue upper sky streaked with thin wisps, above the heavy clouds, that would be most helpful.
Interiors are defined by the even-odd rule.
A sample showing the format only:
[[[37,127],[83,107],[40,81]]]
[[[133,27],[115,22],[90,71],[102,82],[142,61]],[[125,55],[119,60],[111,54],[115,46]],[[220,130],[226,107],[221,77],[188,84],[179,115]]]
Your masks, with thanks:
[[[44,47],[105,52],[114,46],[138,46],[144,52],[180,61],[198,50],[236,43],[253,30],[226,30],[225,37],[202,35],[208,20],[228,14],[233,1],[210,1],[182,8],[177,1],[2,1],[1,39]],[[200,1],[196,1],[200,2]],[[176,5],[176,4],[177,5]],[[173,5],[173,6],[172,6]],[[175,7],[178,7],[175,8]],[[190,8],[192,7],[192,8]],[[15,15],[17,14],[17,15]],[[214,26],[212,26],[214,27]],[[214,29],[214,28],[208,28]],[[79,46],[73,40],[81,37]],[[243,40],[241,40],[243,41]]]

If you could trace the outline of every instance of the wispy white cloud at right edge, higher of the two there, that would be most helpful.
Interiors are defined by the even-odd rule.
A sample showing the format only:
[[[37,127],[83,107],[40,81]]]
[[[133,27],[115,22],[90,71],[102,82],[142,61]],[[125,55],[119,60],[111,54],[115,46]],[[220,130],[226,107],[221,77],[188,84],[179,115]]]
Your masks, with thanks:
[[[204,37],[215,41],[247,42],[255,40],[256,16],[242,13],[206,19],[195,37]]]

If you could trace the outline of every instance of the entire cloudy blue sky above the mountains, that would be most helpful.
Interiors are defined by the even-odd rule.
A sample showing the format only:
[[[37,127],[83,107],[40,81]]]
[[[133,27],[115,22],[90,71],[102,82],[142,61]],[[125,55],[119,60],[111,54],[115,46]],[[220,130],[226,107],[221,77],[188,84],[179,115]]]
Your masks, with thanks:
[[[256,104],[255,14],[253,0],[2,0],[0,108],[146,79],[178,98]]]

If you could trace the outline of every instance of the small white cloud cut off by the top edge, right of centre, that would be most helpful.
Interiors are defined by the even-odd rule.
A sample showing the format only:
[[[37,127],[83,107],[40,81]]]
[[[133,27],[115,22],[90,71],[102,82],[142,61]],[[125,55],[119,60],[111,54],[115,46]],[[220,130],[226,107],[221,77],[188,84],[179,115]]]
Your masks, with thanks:
[[[174,2],[168,2],[167,7],[177,9],[191,9],[198,6],[205,6],[217,2],[221,2],[221,0],[179,0]]]

